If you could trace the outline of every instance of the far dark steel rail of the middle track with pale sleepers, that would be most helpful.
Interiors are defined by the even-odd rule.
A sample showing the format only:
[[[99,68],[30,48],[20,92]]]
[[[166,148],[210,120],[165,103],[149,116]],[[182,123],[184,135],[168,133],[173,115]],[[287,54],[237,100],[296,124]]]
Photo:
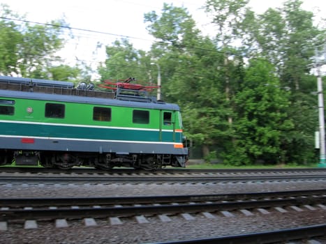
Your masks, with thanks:
[[[0,198],[0,206],[10,208],[40,207],[40,206],[101,206],[115,204],[166,204],[198,201],[239,201],[245,199],[271,199],[280,197],[316,197],[326,196],[326,189],[299,190],[284,192],[249,192],[214,195],[164,195],[140,197],[38,197],[38,198]]]

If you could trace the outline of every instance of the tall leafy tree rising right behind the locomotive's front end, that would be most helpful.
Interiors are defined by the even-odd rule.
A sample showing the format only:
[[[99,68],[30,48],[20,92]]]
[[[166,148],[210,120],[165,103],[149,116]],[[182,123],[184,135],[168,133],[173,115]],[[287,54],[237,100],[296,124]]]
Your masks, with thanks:
[[[145,15],[147,29],[158,40],[152,46],[163,73],[165,98],[182,109],[185,134],[202,146],[205,156],[232,138],[230,100],[225,98],[225,66],[229,80],[238,77],[234,61],[225,64],[225,52],[204,37],[186,8],[164,4],[161,15]],[[236,71],[232,74],[232,71]],[[220,146],[223,148],[223,146]]]

